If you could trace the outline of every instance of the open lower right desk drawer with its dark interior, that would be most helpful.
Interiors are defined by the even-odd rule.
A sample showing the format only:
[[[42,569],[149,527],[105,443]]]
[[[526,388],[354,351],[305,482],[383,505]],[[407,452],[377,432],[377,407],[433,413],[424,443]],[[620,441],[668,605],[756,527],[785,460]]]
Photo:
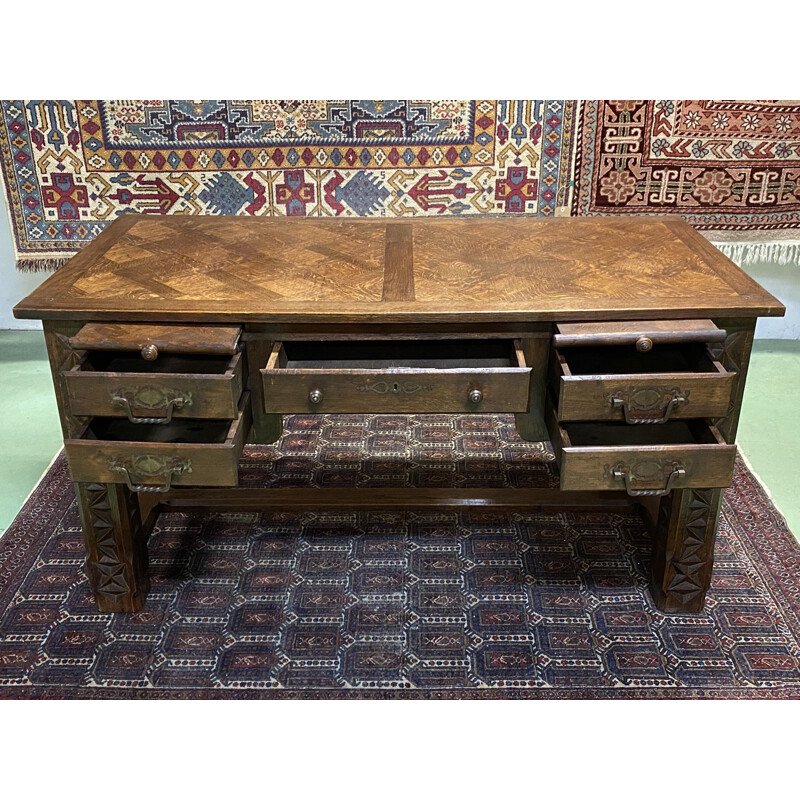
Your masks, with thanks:
[[[547,422],[562,489],[623,489],[638,496],[731,484],[736,446],[705,420],[561,424],[550,405]]]

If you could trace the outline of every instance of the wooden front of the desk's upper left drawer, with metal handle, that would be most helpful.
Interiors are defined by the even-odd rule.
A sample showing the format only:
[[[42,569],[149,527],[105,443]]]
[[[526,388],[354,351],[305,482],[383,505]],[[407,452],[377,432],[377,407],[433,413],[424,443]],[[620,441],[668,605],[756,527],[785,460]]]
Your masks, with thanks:
[[[164,359],[162,358],[161,361]],[[64,372],[70,413],[168,422],[175,418],[234,419],[243,388],[241,353],[198,359],[198,366],[225,361],[224,372],[105,372],[91,369],[87,355]],[[145,367],[148,362],[141,362]]]

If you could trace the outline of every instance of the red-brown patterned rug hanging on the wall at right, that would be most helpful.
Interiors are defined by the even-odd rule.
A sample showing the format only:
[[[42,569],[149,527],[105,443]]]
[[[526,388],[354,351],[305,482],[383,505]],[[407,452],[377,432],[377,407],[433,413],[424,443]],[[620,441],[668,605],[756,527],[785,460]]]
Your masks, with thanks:
[[[800,227],[800,104],[600,100],[579,115],[572,214],[674,214],[704,230]]]

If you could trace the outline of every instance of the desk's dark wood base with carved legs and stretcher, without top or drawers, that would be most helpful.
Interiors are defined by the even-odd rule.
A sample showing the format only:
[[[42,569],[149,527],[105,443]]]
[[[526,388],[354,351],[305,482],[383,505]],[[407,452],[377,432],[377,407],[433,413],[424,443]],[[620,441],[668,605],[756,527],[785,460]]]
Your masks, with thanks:
[[[728,414],[717,428],[728,441],[735,436],[741,397],[753,340],[754,320],[722,320],[728,331],[718,343],[715,357],[736,373],[736,387]],[[65,368],[76,352],[70,335],[79,322],[44,321],[45,338],[59,400],[65,439],[80,434],[85,418],[69,413]],[[303,333],[306,337],[308,334]],[[317,336],[324,338],[325,333]],[[263,410],[259,364],[273,350],[267,333],[245,326],[245,352],[251,363],[248,386],[252,398],[253,427],[250,441],[268,444],[280,436],[281,418]],[[517,414],[523,438],[547,438],[544,423],[547,353],[550,335],[544,332],[522,340],[531,377],[528,412]],[[542,358],[542,356],[545,358]],[[533,356],[533,360],[531,360]],[[254,367],[256,367],[254,369]],[[705,601],[713,564],[713,542],[722,496],[720,488],[676,489],[669,496],[634,501],[623,492],[562,491],[560,489],[248,489],[175,488],[163,495],[135,495],[120,484],[77,483],[79,505],[87,539],[87,571],[101,611],[137,611],[147,594],[149,531],[157,515],[170,508],[218,510],[337,510],[341,508],[494,508],[535,510],[556,507],[613,508],[638,505],[654,536],[651,591],[657,606],[669,613],[700,611]],[[103,534],[108,525],[113,537]],[[101,535],[103,534],[103,535]],[[105,535],[105,538],[104,538]],[[116,576],[116,577],[115,577]],[[112,580],[113,578],[113,580]]]

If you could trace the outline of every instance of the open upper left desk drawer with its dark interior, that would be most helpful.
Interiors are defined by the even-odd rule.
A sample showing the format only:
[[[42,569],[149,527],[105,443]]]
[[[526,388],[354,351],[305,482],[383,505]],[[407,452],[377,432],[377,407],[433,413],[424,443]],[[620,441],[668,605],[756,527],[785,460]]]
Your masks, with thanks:
[[[234,419],[242,394],[241,353],[162,354],[87,350],[63,373],[70,413],[169,424],[173,417]]]

